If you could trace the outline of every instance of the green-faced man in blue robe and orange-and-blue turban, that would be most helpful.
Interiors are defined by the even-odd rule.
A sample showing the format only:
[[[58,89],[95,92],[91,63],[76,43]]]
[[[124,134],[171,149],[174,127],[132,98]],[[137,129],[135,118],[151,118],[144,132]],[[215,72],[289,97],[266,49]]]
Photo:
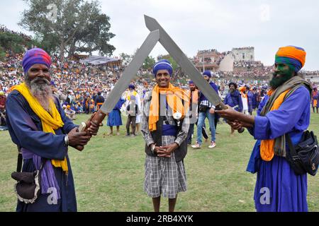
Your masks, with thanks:
[[[304,49],[280,47],[270,90],[260,103],[257,116],[230,107],[218,111],[233,129],[244,126],[257,140],[247,165],[248,172],[257,172],[257,211],[308,211],[307,174],[297,175],[285,157],[289,151],[285,135],[288,133],[296,145],[310,122],[312,86],[298,76],[305,61]]]

